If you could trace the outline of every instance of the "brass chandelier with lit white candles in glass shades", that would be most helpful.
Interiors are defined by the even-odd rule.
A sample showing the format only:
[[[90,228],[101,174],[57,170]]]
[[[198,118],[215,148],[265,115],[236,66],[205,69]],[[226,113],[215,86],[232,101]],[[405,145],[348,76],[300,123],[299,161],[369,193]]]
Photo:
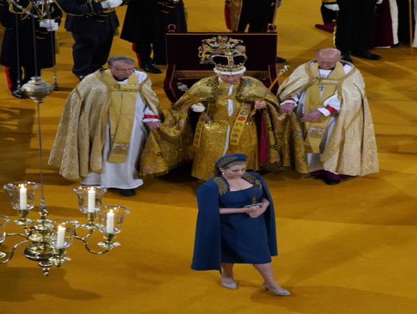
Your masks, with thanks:
[[[122,231],[123,220],[129,213],[129,209],[118,205],[101,206],[101,198],[107,189],[97,185],[81,185],[74,188],[73,191],[78,196],[79,210],[85,213],[87,222],[81,225],[81,229],[85,229],[86,234],[79,236],[76,230],[80,224],[75,220],[47,219],[49,213],[45,206],[43,190],[40,104],[54,88],[39,76],[35,76],[23,85],[22,89],[38,105],[40,148],[40,206],[38,206],[38,213],[40,218],[38,220],[28,218],[29,211],[35,208],[35,190],[39,187],[37,183],[19,181],[3,186],[10,196],[12,208],[17,210],[20,216],[18,220],[15,220],[15,224],[22,226],[23,231],[21,233],[6,233],[6,224],[10,221],[10,217],[0,215],[0,245],[6,240],[6,237],[19,237],[23,240],[15,244],[8,253],[0,251],[0,263],[8,263],[15,255],[16,249],[26,245],[23,251],[24,256],[31,261],[38,262],[43,274],[49,276],[52,266],[60,267],[63,263],[71,261],[71,258],[65,254],[74,239],[83,242],[85,249],[92,254],[104,254],[118,247],[120,243],[115,242],[115,234]],[[97,230],[104,234],[105,239],[97,243],[99,247],[103,248],[101,251],[90,249],[88,242],[90,236]]]

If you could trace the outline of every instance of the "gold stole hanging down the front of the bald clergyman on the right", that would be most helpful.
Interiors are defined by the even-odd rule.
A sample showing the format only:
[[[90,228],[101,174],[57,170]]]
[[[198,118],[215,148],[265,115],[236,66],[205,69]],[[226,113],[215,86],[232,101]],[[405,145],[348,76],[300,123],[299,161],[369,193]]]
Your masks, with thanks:
[[[339,79],[345,75],[343,65],[336,63],[334,70],[327,78],[319,77],[318,64],[314,63],[310,71],[316,81],[306,88],[306,103],[304,113],[309,113],[323,106],[326,99],[336,92]],[[324,89],[321,91],[322,87]],[[315,121],[304,124],[304,147],[306,153],[320,154],[320,142],[327,129],[330,116],[322,116]]]

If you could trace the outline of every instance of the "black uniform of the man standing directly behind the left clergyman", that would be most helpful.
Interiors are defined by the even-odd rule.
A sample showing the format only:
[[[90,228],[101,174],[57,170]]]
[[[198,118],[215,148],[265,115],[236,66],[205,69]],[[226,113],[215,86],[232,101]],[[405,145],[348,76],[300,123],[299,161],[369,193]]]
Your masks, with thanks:
[[[56,0],[67,13],[65,29],[72,33],[74,45],[72,72],[86,76],[101,68],[108,59],[119,21],[115,11],[104,13],[101,3],[85,0]]]

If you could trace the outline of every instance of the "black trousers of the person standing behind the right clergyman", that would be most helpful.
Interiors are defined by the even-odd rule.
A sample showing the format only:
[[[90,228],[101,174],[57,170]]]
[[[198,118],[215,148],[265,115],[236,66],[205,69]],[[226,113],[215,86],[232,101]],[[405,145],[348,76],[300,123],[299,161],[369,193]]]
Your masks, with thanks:
[[[371,16],[377,0],[338,0],[334,42],[342,54],[368,50]]]

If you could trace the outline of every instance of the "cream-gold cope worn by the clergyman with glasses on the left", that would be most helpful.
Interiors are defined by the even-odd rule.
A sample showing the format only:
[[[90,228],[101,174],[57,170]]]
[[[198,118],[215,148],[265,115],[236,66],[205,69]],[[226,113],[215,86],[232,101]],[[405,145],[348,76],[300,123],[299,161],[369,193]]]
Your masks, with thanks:
[[[60,168],[65,178],[77,179],[90,172],[101,172],[111,90],[103,81],[103,71],[99,69],[85,76],[65,102],[48,160],[49,165]],[[148,77],[140,82],[140,96],[163,120]]]

